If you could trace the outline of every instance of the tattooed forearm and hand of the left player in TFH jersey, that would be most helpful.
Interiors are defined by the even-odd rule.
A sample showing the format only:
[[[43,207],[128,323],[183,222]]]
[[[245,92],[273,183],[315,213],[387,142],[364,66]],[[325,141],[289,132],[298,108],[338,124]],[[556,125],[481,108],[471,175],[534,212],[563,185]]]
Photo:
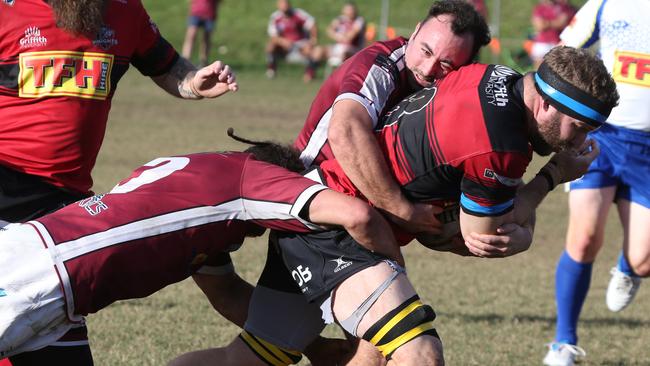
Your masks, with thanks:
[[[167,93],[183,99],[216,98],[238,89],[230,66],[215,61],[197,70],[184,57],[179,57],[169,71],[152,80]]]

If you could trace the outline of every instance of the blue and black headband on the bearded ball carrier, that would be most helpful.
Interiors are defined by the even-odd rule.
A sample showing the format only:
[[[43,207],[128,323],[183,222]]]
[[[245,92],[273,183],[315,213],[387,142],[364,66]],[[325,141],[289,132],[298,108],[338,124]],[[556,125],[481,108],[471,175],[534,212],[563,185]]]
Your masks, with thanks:
[[[535,73],[535,87],[557,110],[596,128],[605,123],[612,111],[611,107],[566,82],[545,62]]]

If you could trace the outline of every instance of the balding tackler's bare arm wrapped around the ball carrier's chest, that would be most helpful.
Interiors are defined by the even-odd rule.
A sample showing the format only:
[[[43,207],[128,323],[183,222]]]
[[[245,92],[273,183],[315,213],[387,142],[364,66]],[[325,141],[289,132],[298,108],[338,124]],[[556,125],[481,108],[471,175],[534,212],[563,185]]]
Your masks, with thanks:
[[[372,119],[361,103],[343,99],[334,104],[328,139],[343,171],[396,224],[410,232],[439,231],[434,216],[439,211],[406,199],[388,170],[372,128]]]

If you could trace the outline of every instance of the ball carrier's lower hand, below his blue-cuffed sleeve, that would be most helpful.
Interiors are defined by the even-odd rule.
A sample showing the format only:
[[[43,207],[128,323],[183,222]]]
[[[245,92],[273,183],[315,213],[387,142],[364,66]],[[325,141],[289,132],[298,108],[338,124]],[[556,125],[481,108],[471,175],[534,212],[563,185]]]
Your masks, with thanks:
[[[531,229],[517,224],[504,224],[493,235],[471,233],[465,238],[470,253],[483,258],[509,257],[528,250],[532,242]]]

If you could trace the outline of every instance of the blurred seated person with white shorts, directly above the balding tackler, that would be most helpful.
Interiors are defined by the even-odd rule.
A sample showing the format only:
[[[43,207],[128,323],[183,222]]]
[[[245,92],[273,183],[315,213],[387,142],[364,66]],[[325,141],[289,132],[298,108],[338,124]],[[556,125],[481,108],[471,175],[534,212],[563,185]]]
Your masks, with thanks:
[[[350,56],[360,51],[365,45],[366,20],[359,15],[357,5],[348,1],[341,8],[341,15],[334,18],[327,27],[327,36],[334,44],[316,46],[312,59],[337,67]]]

